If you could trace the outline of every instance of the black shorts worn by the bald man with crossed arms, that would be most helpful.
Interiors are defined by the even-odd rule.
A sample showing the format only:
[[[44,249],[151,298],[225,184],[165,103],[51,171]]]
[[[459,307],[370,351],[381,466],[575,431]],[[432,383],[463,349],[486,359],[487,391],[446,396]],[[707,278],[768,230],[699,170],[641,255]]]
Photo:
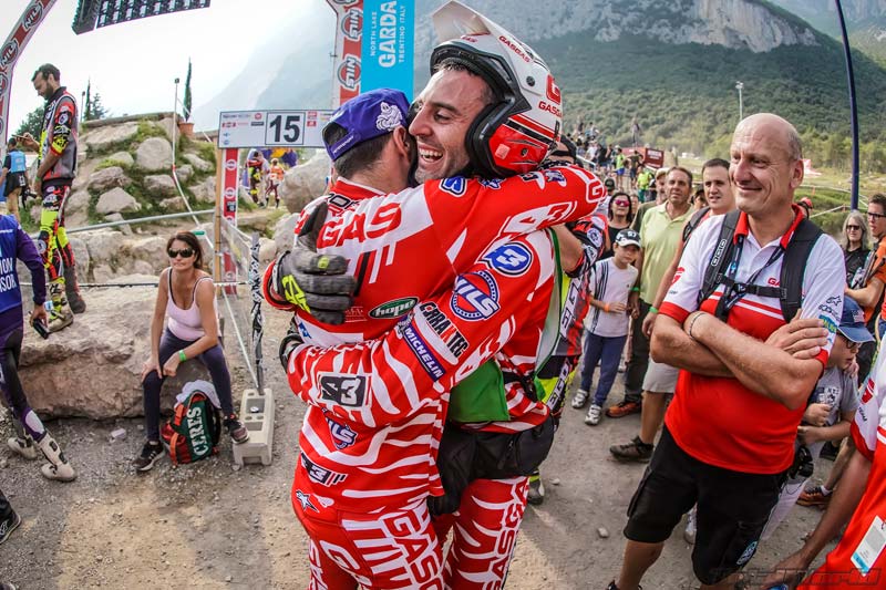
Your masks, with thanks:
[[[702,583],[717,583],[753,557],[784,479],[784,473],[748,474],[702,463],[664,427],[628,506],[625,537],[662,542],[698,504],[692,569]]]

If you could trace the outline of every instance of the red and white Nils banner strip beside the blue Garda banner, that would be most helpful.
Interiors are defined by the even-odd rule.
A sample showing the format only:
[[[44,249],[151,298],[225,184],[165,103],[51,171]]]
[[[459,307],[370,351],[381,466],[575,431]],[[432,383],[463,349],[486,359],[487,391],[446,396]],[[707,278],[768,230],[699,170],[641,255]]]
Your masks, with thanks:
[[[332,72],[332,106],[360,94],[363,39],[363,0],[327,0],[336,11],[336,61]]]

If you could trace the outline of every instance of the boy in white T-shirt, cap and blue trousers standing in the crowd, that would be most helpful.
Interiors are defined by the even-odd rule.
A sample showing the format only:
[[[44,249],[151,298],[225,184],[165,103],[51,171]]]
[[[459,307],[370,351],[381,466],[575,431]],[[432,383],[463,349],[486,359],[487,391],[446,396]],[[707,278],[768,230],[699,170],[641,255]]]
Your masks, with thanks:
[[[612,389],[621,350],[628,339],[628,296],[637,281],[633,266],[640,253],[640,235],[632,229],[621,229],[612,246],[610,258],[598,260],[590,273],[591,310],[585,318],[585,354],[581,365],[581,384],[573,398],[573,407],[581,408],[590,396],[594,371],[600,363],[600,376],[594,401],[585,416],[585,424],[600,422],[606,398]]]

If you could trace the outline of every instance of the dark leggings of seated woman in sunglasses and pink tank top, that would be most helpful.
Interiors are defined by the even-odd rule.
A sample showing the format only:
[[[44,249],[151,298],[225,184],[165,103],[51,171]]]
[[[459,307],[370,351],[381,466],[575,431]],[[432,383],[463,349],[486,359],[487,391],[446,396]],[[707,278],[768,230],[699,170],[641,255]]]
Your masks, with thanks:
[[[186,349],[192,345],[196,340],[187,341],[175,337],[168,330],[163,332],[163,338],[159,339],[159,366],[169,360],[169,356],[176,354],[179,350]],[[222,402],[222,412],[225,416],[234,413],[234,404],[230,398],[230,373],[228,373],[228,365],[225,362],[225,353],[219,344],[212,349],[204,351],[197,359],[203,361],[203,364],[209,370],[209,375],[213,377],[213,385],[218,394],[218,401]],[[159,392],[163,389],[163,382],[166,377],[157,375],[156,371],[147,374],[142,382],[144,389],[145,401],[145,431],[147,432],[147,439],[157,442],[159,441]]]

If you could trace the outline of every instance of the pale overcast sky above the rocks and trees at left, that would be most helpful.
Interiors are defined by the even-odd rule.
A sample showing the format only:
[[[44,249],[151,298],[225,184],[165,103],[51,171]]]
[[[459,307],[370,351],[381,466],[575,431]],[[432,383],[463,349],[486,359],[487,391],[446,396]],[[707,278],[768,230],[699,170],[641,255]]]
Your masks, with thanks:
[[[0,39],[6,39],[29,0],[2,0]],[[184,92],[187,60],[194,64],[194,106],[212,100],[246,64],[256,48],[296,19],[310,27],[324,0],[212,0],[210,8],[115,24],[82,35],[71,30],[76,0],[58,0],[19,56],[12,80],[11,130],[42,105],[31,85],[34,70],[55,64],[62,84],[78,97],[92,81],[114,115],[171,111],[175,77]],[[328,23],[328,19],[323,19]],[[334,21],[332,21],[334,22]],[[332,25],[334,27],[334,24]],[[329,34],[332,35],[330,29]],[[231,110],[243,108],[230,105]]]

